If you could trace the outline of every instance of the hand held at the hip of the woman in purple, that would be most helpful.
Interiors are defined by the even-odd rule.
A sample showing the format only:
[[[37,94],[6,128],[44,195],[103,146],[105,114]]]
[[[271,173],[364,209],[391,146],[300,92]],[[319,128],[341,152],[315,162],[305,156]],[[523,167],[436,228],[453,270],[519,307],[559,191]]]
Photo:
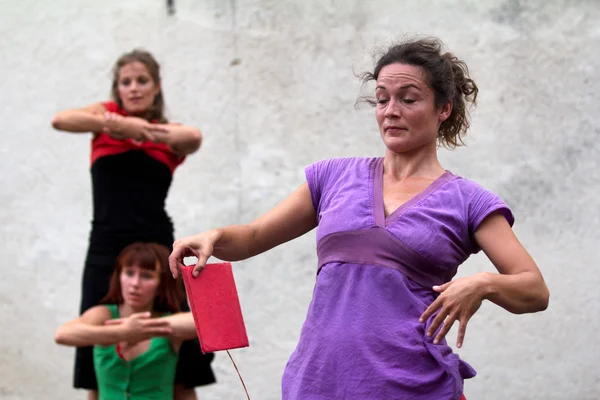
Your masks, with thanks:
[[[483,276],[483,274],[476,274],[433,287],[433,290],[441,294],[427,307],[419,318],[420,322],[425,322],[439,310],[439,313],[435,316],[426,332],[427,336],[432,336],[440,325],[442,326],[433,343],[440,343],[454,322],[458,321],[459,327],[456,345],[457,347],[462,346],[467,330],[467,323],[479,309],[484,299]]]

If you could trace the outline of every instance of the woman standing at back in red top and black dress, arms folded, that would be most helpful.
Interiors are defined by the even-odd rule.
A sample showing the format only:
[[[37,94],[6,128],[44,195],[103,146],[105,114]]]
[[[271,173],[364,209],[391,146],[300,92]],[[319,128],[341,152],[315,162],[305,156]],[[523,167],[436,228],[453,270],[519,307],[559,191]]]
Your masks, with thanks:
[[[121,56],[114,67],[113,101],[57,113],[55,129],[89,133],[94,217],[83,271],[81,313],[106,294],[119,252],[134,242],[171,248],[173,225],[165,200],[175,168],[200,147],[197,128],[165,118],[160,67],[145,51]],[[187,303],[182,309],[188,310]],[[195,399],[194,387],[215,381],[197,341],[185,342],[177,367],[175,400]],[[74,386],[97,398],[92,348],[78,348]]]

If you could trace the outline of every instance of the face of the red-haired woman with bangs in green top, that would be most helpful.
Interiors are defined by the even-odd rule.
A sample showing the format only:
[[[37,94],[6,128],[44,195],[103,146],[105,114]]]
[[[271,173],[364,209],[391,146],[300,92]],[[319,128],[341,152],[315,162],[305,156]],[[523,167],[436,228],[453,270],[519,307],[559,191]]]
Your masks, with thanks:
[[[125,304],[133,309],[152,309],[160,285],[158,268],[152,271],[138,265],[124,266],[120,280]]]

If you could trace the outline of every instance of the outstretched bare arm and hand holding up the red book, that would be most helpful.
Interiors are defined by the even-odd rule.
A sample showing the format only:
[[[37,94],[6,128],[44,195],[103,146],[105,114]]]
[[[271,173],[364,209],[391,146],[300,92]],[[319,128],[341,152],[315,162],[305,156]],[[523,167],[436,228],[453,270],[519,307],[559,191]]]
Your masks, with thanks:
[[[198,257],[198,272],[211,255],[238,261],[263,253],[301,236],[317,226],[317,217],[308,184],[247,225],[232,225],[177,240],[169,257],[171,272],[177,277],[183,258]]]

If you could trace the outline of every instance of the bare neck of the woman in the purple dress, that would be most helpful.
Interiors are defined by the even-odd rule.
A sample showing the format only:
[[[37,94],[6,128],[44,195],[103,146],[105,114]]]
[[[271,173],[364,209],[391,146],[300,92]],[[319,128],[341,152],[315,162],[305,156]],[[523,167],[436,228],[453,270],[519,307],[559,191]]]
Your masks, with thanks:
[[[436,179],[444,172],[437,158],[436,142],[404,153],[387,149],[383,159],[384,175],[394,180],[411,177]]]

